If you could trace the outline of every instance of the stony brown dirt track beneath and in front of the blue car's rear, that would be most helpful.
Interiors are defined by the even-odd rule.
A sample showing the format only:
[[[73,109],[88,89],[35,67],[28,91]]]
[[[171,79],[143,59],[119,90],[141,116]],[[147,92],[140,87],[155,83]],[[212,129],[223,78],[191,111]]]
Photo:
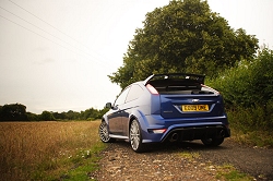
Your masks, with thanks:
[[[142,154],[134,153],[129,143],[117,142],[109,144],[102,157],[100,170],[91,176],[102,181],[213,181],[221,180],[217,166],[224,164],[256,180],[273,181],[273,149],[242,146],[230,140],[216,148],[201,142],[151,145],[151,150]]]

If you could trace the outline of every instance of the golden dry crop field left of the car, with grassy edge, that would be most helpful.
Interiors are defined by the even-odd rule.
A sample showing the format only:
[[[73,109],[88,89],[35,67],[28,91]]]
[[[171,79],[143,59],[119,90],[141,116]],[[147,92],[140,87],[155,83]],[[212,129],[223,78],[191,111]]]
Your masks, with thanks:
[[[0,180],[54,180],[103,148],[99,121],[0,122]],[[88,160],[91,161],[91,160]]]

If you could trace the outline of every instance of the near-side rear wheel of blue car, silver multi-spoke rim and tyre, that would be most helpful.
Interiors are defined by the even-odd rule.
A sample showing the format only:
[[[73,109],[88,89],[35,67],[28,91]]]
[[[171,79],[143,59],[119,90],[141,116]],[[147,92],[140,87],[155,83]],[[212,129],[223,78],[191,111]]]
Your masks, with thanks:
[[[134,152],[141,153],[145,150],[145,145],[142,143],[141,126],[136,120],[130,124],[130,144]]]

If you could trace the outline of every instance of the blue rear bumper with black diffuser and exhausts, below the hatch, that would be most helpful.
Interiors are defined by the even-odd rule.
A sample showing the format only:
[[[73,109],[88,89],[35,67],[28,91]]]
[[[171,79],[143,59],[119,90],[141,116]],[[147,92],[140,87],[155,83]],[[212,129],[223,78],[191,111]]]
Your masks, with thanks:
[[[166,141],[193,141],[206,137],[229,137],[227,117],[164,119],[161,116],[145,116],[140,121],[143,143]],[[151,130],[166,129],[165,133]]]

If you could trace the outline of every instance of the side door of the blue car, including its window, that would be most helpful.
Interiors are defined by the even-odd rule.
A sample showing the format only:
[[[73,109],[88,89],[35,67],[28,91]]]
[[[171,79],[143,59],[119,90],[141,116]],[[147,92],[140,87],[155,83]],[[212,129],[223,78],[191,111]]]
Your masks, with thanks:
[[[126,98],[128,95],[130,87],[127,87],[123,92],[121,92],[121,94],[118,96],[118,98],[116,99],[111,111],[112,113],[108,116],[108,120],[109,120],[109,132],[116,135],[122,135],[122,114],[123,114],[123,106],[126,102]]]

